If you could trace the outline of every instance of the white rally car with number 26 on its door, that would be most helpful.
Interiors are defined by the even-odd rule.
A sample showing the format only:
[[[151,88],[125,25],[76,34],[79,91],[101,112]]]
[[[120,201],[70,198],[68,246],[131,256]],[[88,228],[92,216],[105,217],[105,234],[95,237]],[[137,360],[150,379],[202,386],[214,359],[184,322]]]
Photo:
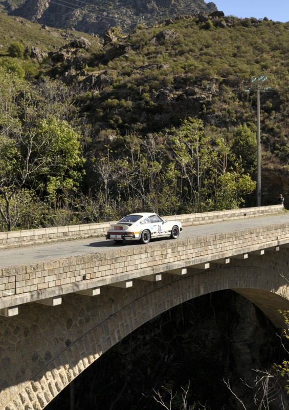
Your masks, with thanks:
[[[148,243],[151,238],[164,236],[176,239],[183,230],[181,222],[163,220],[159,215],[150,212],[127,215],[110,227],[106,239],[116,242],[139,240],[141,243]]]

